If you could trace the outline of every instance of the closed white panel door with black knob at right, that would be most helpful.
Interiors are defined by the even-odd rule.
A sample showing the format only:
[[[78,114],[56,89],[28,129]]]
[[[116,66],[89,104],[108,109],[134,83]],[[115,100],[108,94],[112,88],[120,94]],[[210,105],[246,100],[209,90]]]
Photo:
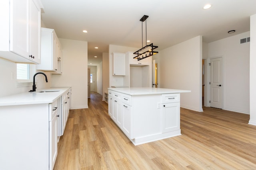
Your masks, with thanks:
[[[210,107],[222,109],[222,57],[210,59]]]

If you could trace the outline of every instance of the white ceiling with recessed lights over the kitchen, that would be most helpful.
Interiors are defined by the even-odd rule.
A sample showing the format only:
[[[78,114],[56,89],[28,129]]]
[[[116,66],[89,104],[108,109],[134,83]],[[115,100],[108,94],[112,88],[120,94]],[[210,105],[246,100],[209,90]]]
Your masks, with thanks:
[[[42,21],[59,38],[88,41],[88,63],[102,61],[108,45],[142,47],[143,15],[147,38],[156,51],[198,35],[212,42],[250,30],[256,0],[41,0]],[[205,4],[212,8],[203,10]],[[143,22],[145,24],[145,22]],[[145,28],[145,25],[143,25]],[[88,33],[83,33],[86,29]],[[236,32],[228,34],[229,30]],[[143,32],[145,34],[145,30]],[[146,45],[145,38],[143,46]],[[94,47],[99,49],[94,49]],[[94,58],[94,56],[98,56]]]

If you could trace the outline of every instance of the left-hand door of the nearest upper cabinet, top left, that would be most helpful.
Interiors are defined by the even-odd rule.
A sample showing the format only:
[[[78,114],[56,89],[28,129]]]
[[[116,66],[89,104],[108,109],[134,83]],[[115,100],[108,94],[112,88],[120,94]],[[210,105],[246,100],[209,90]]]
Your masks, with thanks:
[[[10,1],[10,51],[29,59],[30,53],[30,0]]]

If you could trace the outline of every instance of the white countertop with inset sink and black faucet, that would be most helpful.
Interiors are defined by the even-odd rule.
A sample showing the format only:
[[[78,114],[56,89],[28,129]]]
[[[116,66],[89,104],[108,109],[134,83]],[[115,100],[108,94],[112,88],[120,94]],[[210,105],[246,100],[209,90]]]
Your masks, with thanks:
[[[24,92],[4,96],[0,98],[0,106],[26,105],[26,104],[46,104],[58,99],[69,88],[48,88],[37,90],[36,92]],[[44,90],[59,90],[59,92],[41,92]]]

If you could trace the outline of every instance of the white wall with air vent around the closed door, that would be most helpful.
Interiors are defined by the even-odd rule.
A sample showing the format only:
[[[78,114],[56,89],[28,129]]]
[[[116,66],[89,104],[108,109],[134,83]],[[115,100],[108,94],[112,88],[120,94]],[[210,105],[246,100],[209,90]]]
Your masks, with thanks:
[[[223,56],[222,109],[249,114],[250,43],[240,44],[247,37],[250,32],[208,43],[208,57]]]

